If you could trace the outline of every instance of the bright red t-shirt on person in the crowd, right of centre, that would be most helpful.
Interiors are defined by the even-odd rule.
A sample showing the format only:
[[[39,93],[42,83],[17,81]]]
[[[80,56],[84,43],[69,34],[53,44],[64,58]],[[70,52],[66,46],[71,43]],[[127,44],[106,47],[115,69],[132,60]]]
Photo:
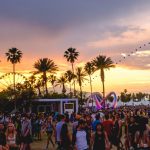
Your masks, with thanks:
[[[104,129],[105,129],[107,135],[110,136],[112,128],[113,128],[113,121],[111,121],[111,120],[105,120],[103,122],[103,126],[104,126]]]

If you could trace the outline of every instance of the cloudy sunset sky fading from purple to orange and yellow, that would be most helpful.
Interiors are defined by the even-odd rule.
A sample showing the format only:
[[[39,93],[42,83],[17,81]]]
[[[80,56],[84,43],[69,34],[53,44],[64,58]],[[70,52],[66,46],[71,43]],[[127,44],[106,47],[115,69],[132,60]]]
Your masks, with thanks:
[[[118,62],[106,71],[106,91],[150,92],[150,1],[148,0],[0,0],[0,75],[11,72],[5,52],[23,52],[16,70],[34,70],[39,58],[53,59],[59,73],[71,69],[63,58],[74,47],[80,52],[76,66],[99,54]],[[144,45],[146,44],[146,45]],[[141,46],[141,48],[139,48]],[[135,49],[138,49],[136,52]],[[99,72],[94,91],[102,91]],[[83,89],[89,91],[87,81]]]

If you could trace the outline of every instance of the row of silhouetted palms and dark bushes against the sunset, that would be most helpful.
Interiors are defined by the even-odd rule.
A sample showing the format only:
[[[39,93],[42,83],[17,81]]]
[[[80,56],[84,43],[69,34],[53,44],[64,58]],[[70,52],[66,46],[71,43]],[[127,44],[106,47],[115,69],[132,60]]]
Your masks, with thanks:
[[[89,80],[90,92],[93,92],[92,75],[99,71],[100,80],[102,83],[102,93],[105,97],[105,70],[114,68],[114,62],[110,57],[98,55],[91,61],[85,63],[83,67],[76,67],[76,61],[80,53],[75,48],[68,48],[64,52],[64,58],[71,65],[71,70],[66,70],[60,77],[57,76],[59,66],[50,58],[40,58],[34,64],[35,71],[31,72],[31,76],[22,84],[15,82],[16,64],[21,62],[23,53],[17,48],[11,48],[5,53],[7,61],[13,65],[13,86],[0,92],[0,100],[7,99],[21,104],[23,100],[30,101],[34,98],[63,98],[63,97],[78,97],[80,102],[83,102],[85,95],[83,92],[83,83]],[[53,91],[49,91],[49,85]],[[66,84],[69,84],[69,93],[67,93]],[[79,85],[79,91],[76,90],[76,84]],[[62,90],[58,94],[56,87],[59,86]],[[72,88],[73,86],[73,88]],[[13,87],[13,88],[12,88]],[[121,96],[127,97],[121,93]]]

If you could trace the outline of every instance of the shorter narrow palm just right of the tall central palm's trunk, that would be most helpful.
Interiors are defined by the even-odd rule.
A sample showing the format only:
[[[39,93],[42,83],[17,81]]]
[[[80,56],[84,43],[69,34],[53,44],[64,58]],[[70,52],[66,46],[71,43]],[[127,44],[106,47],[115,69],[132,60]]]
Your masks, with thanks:
[[[85,76],[86,76],[85,71],[83,71],[83,69],[81,67],[78,67],[76,69],[76,79],[77,79],[77,82],[78,82],[79,87],[80,87],[81,101],[82,101],[82,83],[84,82],[84,80],[86,80]]]

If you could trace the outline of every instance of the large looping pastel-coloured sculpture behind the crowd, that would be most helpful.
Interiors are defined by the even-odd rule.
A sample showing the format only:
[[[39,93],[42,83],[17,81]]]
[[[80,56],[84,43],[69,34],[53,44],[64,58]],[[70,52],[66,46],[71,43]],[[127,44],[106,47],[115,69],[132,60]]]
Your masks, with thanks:
[[[110,102],[109,98],[112,102]],[[88,98],[87,107],[89,107],[91,101],[95,103],[97,110],[117,107],[117,96],[115,92],[110,92],[105,98],[98,92],[93,93]]]

